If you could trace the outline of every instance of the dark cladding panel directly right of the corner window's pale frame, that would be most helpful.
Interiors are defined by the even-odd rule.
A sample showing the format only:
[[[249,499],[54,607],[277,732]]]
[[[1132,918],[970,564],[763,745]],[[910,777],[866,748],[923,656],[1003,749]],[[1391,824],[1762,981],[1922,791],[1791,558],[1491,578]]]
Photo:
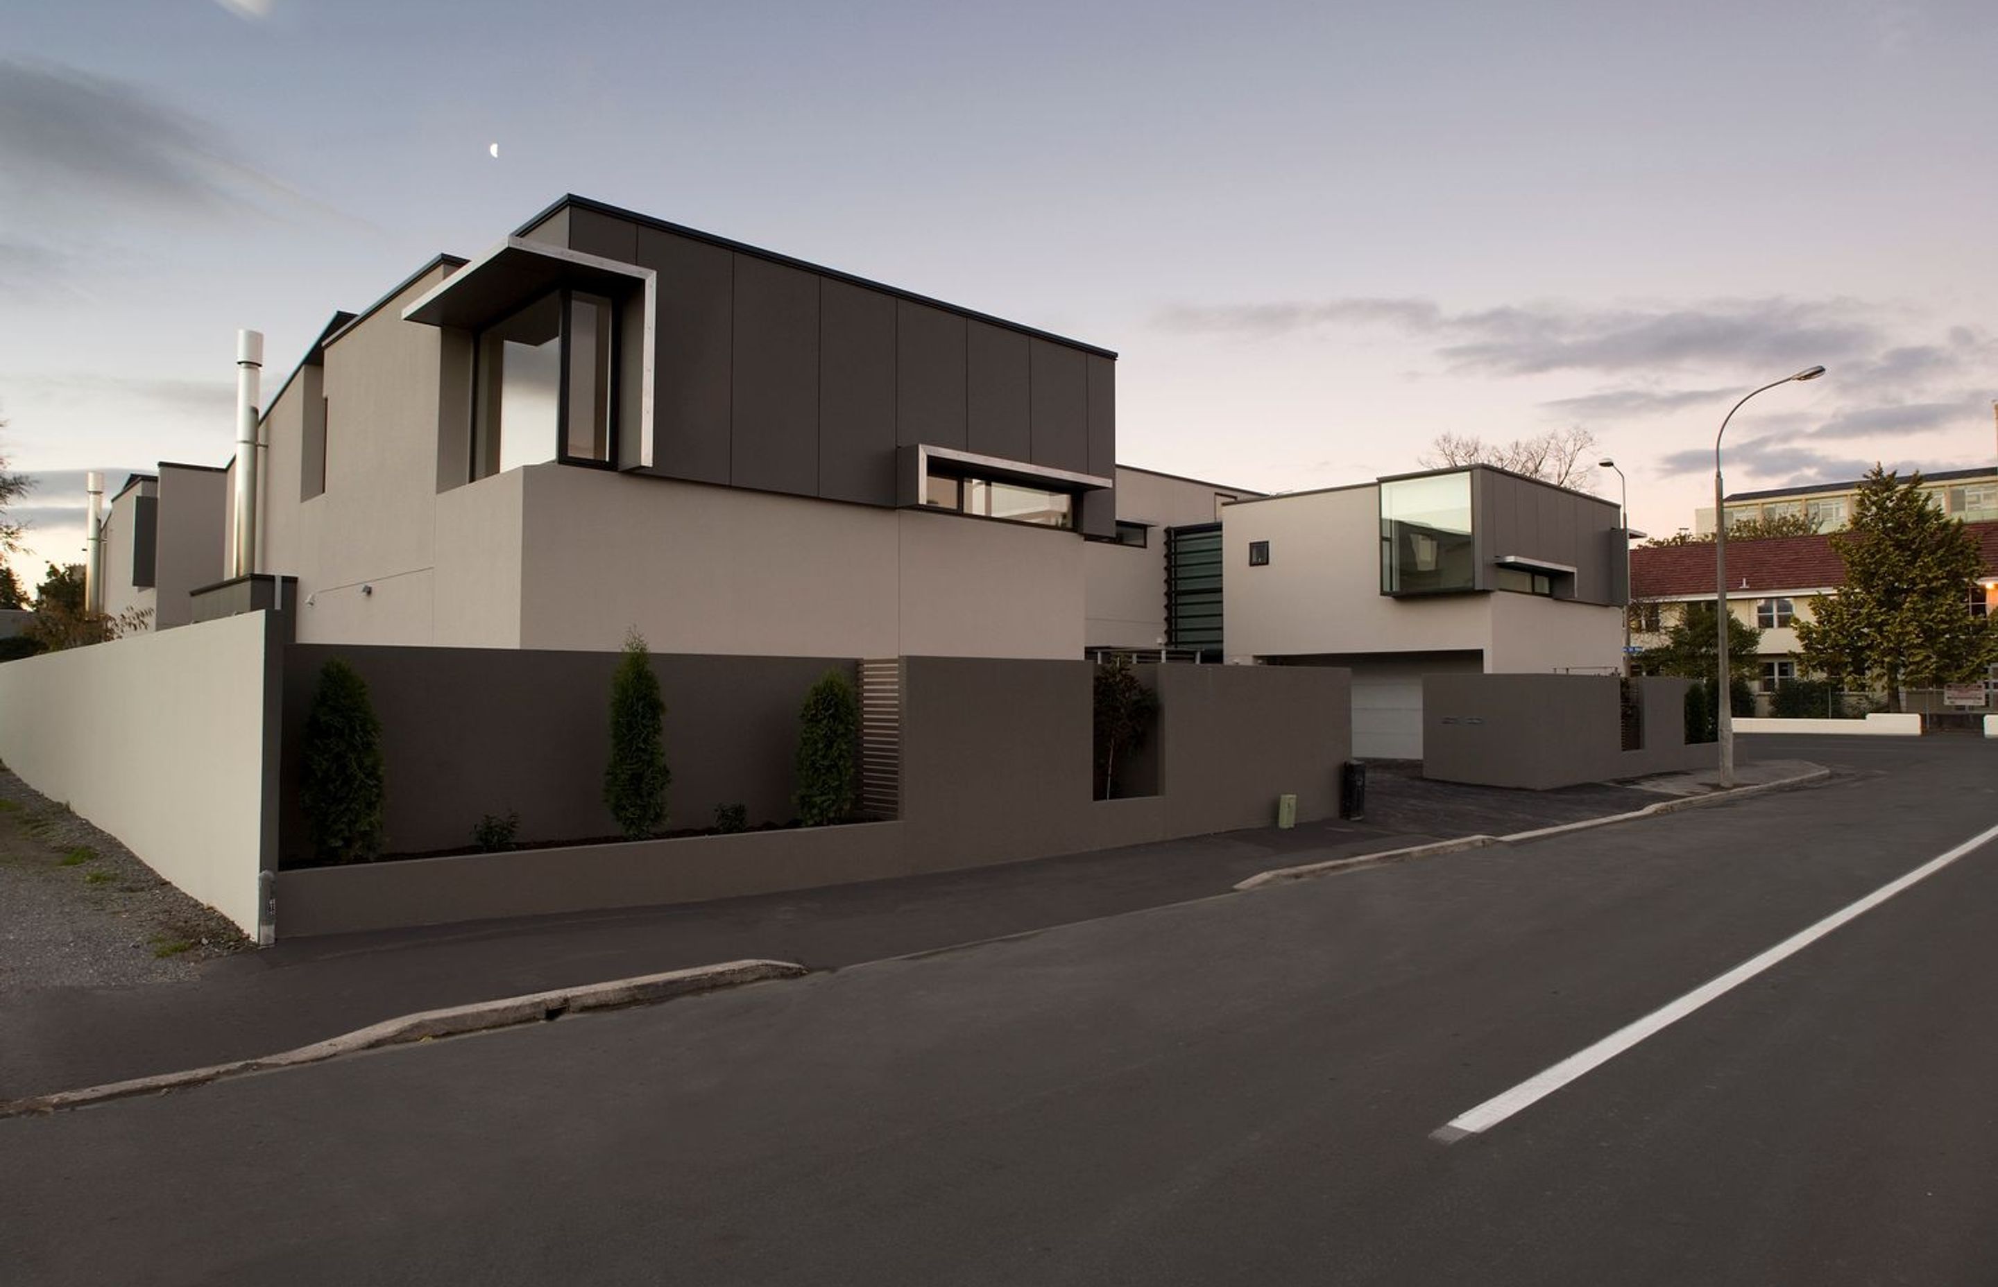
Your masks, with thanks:
[[[639,228],[637,262],[659,274],[651,468],[669,478],[725,484],[735,256],[719,246]]]

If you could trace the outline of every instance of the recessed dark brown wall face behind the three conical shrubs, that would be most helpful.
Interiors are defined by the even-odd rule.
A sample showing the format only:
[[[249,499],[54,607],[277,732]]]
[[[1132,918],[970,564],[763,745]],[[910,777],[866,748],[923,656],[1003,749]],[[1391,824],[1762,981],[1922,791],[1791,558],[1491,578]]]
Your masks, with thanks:
[[[521,841],[613,835],[603,807],[609,683],[617,653],[500,647],[294,645],[284,663],[284,855],[310,853],[298,747],[320,667],[342,657],[368,681],[388,761],[384,849],[468,845],[484,813],[519,813]],[[707,827],[715,805],[749,823],[793,815],[797,709],[825,657],[655,653],[665,695],[667,827]]]

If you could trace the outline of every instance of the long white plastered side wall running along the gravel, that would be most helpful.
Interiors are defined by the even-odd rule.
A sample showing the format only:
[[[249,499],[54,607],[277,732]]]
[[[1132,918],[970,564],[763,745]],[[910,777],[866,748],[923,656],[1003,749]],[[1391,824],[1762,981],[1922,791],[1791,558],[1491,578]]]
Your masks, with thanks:
[[[162,877],[258,929],[270,614],[0,665],[0,757]]]

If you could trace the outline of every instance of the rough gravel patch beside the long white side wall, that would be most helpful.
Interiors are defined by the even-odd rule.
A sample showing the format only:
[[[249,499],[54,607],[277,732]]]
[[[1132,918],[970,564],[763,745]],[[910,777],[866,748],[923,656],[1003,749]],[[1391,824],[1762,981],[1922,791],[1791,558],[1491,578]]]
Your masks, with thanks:
[[[0,993],[174,983],[248,939],[0,769]]]

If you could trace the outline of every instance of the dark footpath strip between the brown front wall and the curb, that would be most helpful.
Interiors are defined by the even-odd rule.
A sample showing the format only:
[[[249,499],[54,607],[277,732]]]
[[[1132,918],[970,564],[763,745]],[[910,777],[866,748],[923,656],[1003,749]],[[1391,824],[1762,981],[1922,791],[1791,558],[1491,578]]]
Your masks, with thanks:
[[[1816,769],[1746,763],[1742,781]],[[763,957],[809,969],[933,951],[1161,907],[1257,873],[1465,835],[1510,835],[1624,815],[1712,789],[1712,775],[1512,791],[1371,775],[1367,817],[1157,845],[585,915],[280,941],[212,961],[194,981],[42,987],[0,997],[0,1099],[258,1059],[398,1015]]]

